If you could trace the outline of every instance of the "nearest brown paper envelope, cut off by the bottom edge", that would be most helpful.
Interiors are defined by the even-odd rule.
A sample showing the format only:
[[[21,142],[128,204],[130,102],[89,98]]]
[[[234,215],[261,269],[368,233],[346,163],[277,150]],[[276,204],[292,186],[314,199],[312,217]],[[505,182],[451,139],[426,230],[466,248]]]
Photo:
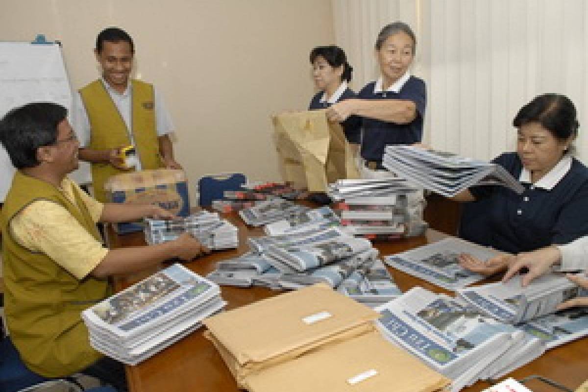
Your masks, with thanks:
[[[377,332],[313,351],[246,381],[251,392],[431,392],[450,383]]]

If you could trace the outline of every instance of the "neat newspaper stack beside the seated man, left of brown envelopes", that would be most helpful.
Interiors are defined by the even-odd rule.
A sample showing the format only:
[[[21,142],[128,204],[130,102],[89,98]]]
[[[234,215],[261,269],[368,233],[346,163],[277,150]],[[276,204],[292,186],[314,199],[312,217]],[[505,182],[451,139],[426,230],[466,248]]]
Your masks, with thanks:
[[[225,306],[219,287],[180,264],[82,312],[90,344],[135,365],[192,333]]]

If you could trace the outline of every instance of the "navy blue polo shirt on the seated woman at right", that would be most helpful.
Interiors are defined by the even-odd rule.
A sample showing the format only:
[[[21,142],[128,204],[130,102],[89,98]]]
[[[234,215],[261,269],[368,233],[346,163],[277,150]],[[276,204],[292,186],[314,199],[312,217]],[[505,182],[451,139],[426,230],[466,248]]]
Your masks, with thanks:
[[[493,162],[519,179],[517,153]],[[569,172],[551,190],[523,183],[522,195],[502,186],[476,186],[476,202],[466,203],[459,234],[463,239],[509,253],[566,244],[588,234],[588,169],[572,160]]]

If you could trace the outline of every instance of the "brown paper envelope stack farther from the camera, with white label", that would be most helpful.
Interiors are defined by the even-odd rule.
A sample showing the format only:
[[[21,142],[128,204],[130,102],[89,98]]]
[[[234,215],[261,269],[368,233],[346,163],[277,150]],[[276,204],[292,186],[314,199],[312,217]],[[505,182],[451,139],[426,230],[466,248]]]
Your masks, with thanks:
[[[326,317],[308,322],[321,314]],[[369,307],[316,284],[220,313],[203,323],[244,366],[312,346],[377,317]]]

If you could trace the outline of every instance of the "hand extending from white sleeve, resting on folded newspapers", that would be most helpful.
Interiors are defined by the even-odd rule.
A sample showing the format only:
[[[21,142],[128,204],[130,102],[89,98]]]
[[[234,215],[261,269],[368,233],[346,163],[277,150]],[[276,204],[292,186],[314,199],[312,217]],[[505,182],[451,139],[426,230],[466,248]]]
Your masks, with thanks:
[[[521,283],[527,286],[531,281],[542,274],[549,272],[551,266],[562,259],[562,254],[556,246],[549,246],[543,249],[537,249],[533,252],[519,253],[515,262],[509,266],[502,282],[507,282],[523,268],[529,269],[529,272],[523,275]]]

